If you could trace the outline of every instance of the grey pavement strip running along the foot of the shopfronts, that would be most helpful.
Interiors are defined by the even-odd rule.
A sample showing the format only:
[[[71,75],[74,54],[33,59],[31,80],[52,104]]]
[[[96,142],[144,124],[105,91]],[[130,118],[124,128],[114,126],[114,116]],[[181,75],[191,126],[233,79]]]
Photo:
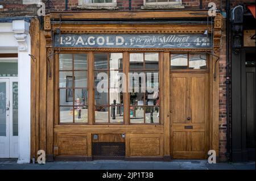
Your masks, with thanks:
[[[207,160],[170,162],[95,160],[88,162],[46,162],[17,164],[16,159],[0,159],[0,170],[255,170],[255,162],[212,163]]]

